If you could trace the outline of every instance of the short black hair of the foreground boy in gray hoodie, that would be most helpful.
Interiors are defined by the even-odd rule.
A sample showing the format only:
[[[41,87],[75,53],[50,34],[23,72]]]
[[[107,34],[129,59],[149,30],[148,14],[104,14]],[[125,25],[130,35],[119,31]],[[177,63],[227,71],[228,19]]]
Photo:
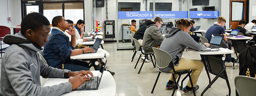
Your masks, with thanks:
[[[43,28],[43,25],[50,25],[48,19],[41,13],[29,13],[28,15],[24,16],[21,21],[21,30],[22,34],[25,34],[28,29],[32,31],[39,30]]]

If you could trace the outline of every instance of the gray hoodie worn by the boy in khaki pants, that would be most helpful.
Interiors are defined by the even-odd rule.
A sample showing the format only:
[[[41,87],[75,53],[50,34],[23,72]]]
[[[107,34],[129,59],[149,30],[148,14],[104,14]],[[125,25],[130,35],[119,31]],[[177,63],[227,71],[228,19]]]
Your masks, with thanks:
[[[196,43],[186,31],[180,30],[176,34],[173,34],[176,30],[178,30],[178,28],[175,27],[167,29],[165,39],[161,44],[160,49],[168,52],[172,56],[174,65],[178,66],[186,46],[190,49],[200,51],[206,49],[207,45]]]

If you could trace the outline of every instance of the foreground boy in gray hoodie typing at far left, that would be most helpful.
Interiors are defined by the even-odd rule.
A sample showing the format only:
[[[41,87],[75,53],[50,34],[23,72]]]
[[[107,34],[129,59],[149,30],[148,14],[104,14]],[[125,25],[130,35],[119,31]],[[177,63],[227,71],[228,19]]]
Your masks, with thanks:
[[[18,34],[4,37],[3,42],[10,46],[1,64],[1,96],[59,96],[89,81],[88,74],[93,77],[90,71],[71,72],[44,64],[37,52],[48,41],[49,32],[47,18],[41,13],[30,13],[22,19]],[[69,82],[42,87],[40,75],[43,78],[72,78]]]

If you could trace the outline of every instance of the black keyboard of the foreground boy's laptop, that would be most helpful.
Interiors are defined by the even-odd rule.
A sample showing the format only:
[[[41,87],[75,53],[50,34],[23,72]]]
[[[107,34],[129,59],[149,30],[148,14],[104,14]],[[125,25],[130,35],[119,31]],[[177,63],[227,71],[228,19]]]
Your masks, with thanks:
[[[78,88],[96,88],[96,77],[90,77],[90,81],[85,81],[82,85],[80,85]]]

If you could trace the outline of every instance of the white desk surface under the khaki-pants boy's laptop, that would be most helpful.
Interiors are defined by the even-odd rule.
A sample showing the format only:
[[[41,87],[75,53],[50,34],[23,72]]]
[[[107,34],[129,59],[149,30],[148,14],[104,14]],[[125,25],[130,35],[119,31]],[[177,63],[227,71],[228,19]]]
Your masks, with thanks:
[[[195,50],[186,48],[186,50],[196,52],[196,53],[198,53],[200,55],[218,55],[218,54],[231,54],[231,53],[234,53],[233,50],[229,50],[229,49],[226,49],[226,48],[219,48],[219,49],[220,49],[219,51],[199,52],[199,51],[195,51]]]

